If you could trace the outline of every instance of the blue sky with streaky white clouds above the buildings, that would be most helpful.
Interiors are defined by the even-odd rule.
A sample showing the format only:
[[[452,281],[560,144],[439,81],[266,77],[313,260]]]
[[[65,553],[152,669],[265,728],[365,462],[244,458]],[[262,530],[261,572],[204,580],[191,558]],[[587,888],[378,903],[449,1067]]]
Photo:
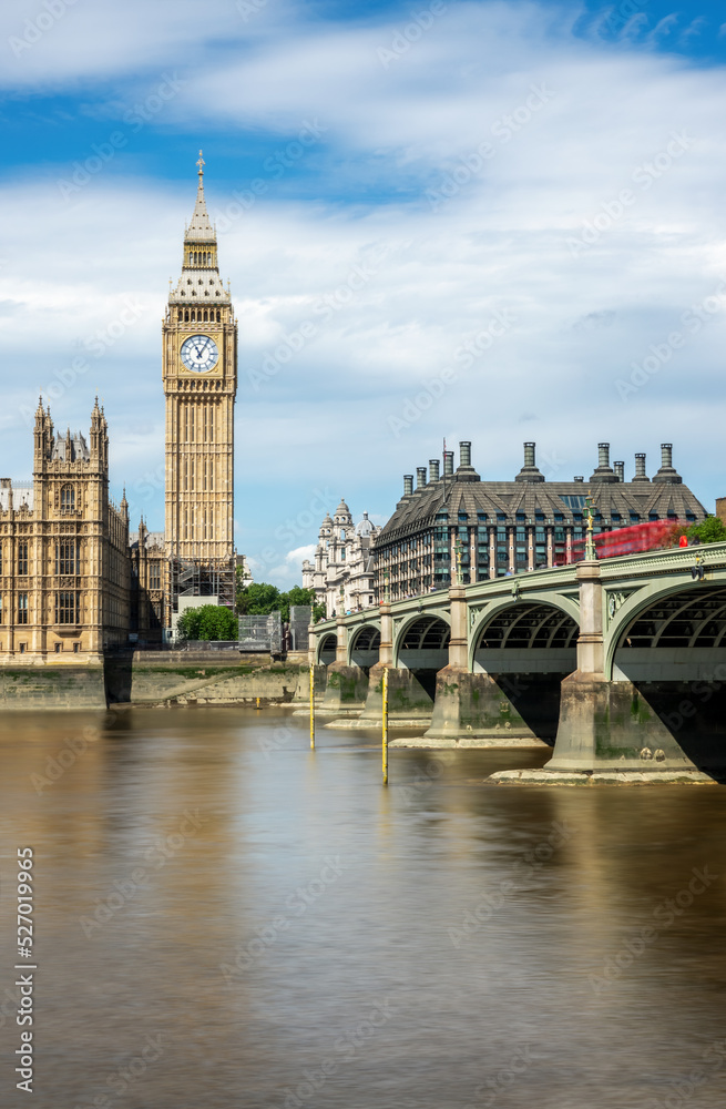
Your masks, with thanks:
[[[202,146],[258,580],[299,580],[341,496],[387,519],[443,437],[491,479],[524,440],[551,479],[672,441],[726,495],[722,6],[23,0],[0,51],[3,475],[40,388],[62,428],[98,389],[112,491],[163,528]]]

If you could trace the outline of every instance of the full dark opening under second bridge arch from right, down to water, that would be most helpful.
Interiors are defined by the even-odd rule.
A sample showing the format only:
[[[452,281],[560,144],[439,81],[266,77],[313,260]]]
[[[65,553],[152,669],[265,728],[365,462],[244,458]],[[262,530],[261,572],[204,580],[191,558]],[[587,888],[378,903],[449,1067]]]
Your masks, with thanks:
[[[553,743],[560,685],[577,667],[576,621],[554,604],[518,601],[481,628],[473,672],[488,673],[538,739]]]

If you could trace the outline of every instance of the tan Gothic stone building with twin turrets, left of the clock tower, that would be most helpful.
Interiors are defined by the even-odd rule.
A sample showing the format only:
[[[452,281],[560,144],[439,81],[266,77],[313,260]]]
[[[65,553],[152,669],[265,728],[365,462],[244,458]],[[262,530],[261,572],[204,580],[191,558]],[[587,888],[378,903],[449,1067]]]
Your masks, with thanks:
[[[32,486],[0,481],[0,661],[98,662],[125,644],[129,511],[109,500],[109,435],[98,400],[88,440],[35,413]]]

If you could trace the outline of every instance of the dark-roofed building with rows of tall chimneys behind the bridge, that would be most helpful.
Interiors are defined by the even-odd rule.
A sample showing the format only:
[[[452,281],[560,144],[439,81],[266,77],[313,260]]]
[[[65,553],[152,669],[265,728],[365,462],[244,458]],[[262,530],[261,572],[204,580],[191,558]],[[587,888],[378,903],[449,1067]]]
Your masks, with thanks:
[[[391,600],[443,589],[461,553],[464,582],[521,573],[564,561],[573,542],[584,539],[584,505],[594,501],[594,531],[610,531],[647,520],[703,520],[706,510],[673,468],[672,446],[663,444],[662,464],[653,479],[645,455],[635,456],[635,475],[625,481],[624,464],[610,465],[610,445],[600,444],[599,465],[587,485],[545,481],[535,465],[535,445],[524,444],[524,465],[513,481],[482,481],[471,465],[471,444],[403,478],[403,497],[376,538],[376,592]]]

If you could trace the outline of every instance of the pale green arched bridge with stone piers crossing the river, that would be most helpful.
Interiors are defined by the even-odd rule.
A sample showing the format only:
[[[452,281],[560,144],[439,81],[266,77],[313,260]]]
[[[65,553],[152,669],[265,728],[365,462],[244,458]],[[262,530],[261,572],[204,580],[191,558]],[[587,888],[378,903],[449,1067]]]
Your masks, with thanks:
[[[384,602],[311,627],[310,661],[336,726],[380,721],[387,669],[391,723],[431,746],[549,744],[540,780],[722,777],[726,543]]]

